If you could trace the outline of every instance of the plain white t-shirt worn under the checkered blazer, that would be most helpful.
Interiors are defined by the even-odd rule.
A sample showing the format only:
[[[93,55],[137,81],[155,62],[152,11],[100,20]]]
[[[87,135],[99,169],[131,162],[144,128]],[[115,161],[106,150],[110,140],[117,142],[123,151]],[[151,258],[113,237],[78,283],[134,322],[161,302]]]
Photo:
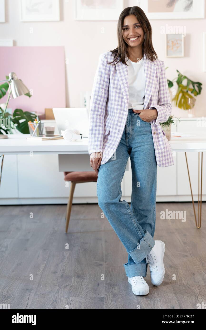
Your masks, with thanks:
[[[143,57],[139,62],[132,62],[130,59],[128,64],[128,81],[129,81],[129,106],[128,109],[143,110],[145,95],[145,74]]]

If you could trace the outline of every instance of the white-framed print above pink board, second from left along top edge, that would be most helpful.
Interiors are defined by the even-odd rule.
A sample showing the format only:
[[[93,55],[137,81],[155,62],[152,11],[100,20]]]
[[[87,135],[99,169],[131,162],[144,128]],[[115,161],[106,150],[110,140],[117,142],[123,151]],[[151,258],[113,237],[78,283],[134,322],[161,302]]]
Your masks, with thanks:
[[[20,0],[21,22],[46,22],[60,20],[59,0]]]

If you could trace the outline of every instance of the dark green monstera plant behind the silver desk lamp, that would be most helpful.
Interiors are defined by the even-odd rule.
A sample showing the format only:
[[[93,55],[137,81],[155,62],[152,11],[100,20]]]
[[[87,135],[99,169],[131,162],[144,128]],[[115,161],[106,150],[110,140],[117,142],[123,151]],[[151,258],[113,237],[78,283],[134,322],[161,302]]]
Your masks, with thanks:
[[[6,76],[6,79],[9,79]],[[4,82],[0,85],[0,99],[6,95],[9,88],[9,83]],[[25,94],[31,97],[30,93]],[[36,115],[29,111],[23,111],[21,109],[15,109],[11,115],[9,112],[5,112],[0,107],[0,134],[13,134],[16,130],[23,134],[29,134],[28,121],[34,121]]]

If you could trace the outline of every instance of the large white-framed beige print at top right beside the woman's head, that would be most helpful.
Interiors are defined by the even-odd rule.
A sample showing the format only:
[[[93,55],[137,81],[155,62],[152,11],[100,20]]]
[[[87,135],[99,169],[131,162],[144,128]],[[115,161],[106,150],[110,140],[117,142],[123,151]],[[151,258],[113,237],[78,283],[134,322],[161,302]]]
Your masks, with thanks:
[[[137,6],[142,8],[148,19],[205,18],[205,1],[190,1],[191,6],[185,0],[170,3],[169,0],[139,0]]]

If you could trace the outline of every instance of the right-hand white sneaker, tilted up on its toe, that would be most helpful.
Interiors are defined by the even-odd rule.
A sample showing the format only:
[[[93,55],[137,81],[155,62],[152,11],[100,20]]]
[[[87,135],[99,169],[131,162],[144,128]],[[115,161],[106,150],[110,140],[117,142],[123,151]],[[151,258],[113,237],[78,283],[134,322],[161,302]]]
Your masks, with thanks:
[[[165,276],[163,263],[165,244],[162,241],[155,240],[155,245],[147,254],[147,260],[150,268],[150,278],[153,285],[160,285]]]

